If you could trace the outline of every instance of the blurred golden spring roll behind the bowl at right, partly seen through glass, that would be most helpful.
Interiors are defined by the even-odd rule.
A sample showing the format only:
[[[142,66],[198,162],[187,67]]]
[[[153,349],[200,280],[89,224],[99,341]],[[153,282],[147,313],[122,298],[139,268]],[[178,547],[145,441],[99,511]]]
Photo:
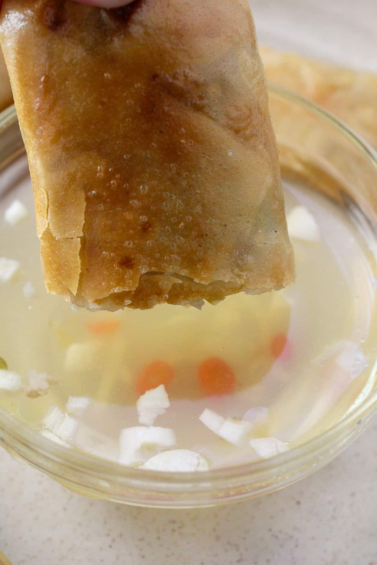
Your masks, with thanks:
[[[261,54],[268,79],[327,108],[377,148],[376,75],[265,47]],[[350,199],[376,222],[375,169],[352,136],[336,135],[331,122],[304,106],[287,106],[275,95],[270,102],[284,176],[304,180],[340,205]]]

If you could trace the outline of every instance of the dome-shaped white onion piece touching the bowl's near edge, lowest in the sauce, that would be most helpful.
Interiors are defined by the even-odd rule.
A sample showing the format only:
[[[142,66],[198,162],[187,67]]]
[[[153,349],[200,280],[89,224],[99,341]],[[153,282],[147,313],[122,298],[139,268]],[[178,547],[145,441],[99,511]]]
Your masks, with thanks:
[[[189,449],[173,449],[171,451],[162,451],[148,459],[142,469],[151,471],[208,471],[208,463],[203,455],[190,451]]]

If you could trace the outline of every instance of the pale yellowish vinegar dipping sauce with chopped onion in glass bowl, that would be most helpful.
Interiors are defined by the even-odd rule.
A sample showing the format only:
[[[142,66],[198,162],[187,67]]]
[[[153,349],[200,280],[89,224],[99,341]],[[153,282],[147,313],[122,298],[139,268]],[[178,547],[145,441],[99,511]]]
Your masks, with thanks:
[[[0,407],[36,433],[136,467],[184,449],[218,468],[318,436],[374,387],[376,241],[356,208],[284,183],[297,271],[287,289],[202,310],[88,312],[45,290],[26,158],[0,180],[0,256],[19,262],[0,259],[0,362],[22,380],[1,373]],[[27,217],[13,204],[6,219],[15,200]],[[161,384],[168,401],[163,389],[145,397],[143,424],[136,402]],[[141,432],[122,430],[151,424],[172,434],[128,457]]]

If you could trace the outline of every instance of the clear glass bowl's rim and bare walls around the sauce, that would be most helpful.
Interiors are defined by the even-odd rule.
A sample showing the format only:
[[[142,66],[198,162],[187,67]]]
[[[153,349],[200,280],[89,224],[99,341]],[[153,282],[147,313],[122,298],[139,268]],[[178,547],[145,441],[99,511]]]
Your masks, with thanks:
[[[270,85],[270,110],[284,179],[305,182],[341,206],[354,207],[375,233],[377,155],[335,117],[305,99]],[[0,168],[24,152],[15,108],[0,116]],[[0,194],[1,197],[1,194]],[[336,457],[377,413],[376,364],[369,392],[334,427],[286,453],[203,473],[140,472],[54,444],[0,410],[0,443],[86,496],[140,506],[200,507],[270,493],[309,475]]]

